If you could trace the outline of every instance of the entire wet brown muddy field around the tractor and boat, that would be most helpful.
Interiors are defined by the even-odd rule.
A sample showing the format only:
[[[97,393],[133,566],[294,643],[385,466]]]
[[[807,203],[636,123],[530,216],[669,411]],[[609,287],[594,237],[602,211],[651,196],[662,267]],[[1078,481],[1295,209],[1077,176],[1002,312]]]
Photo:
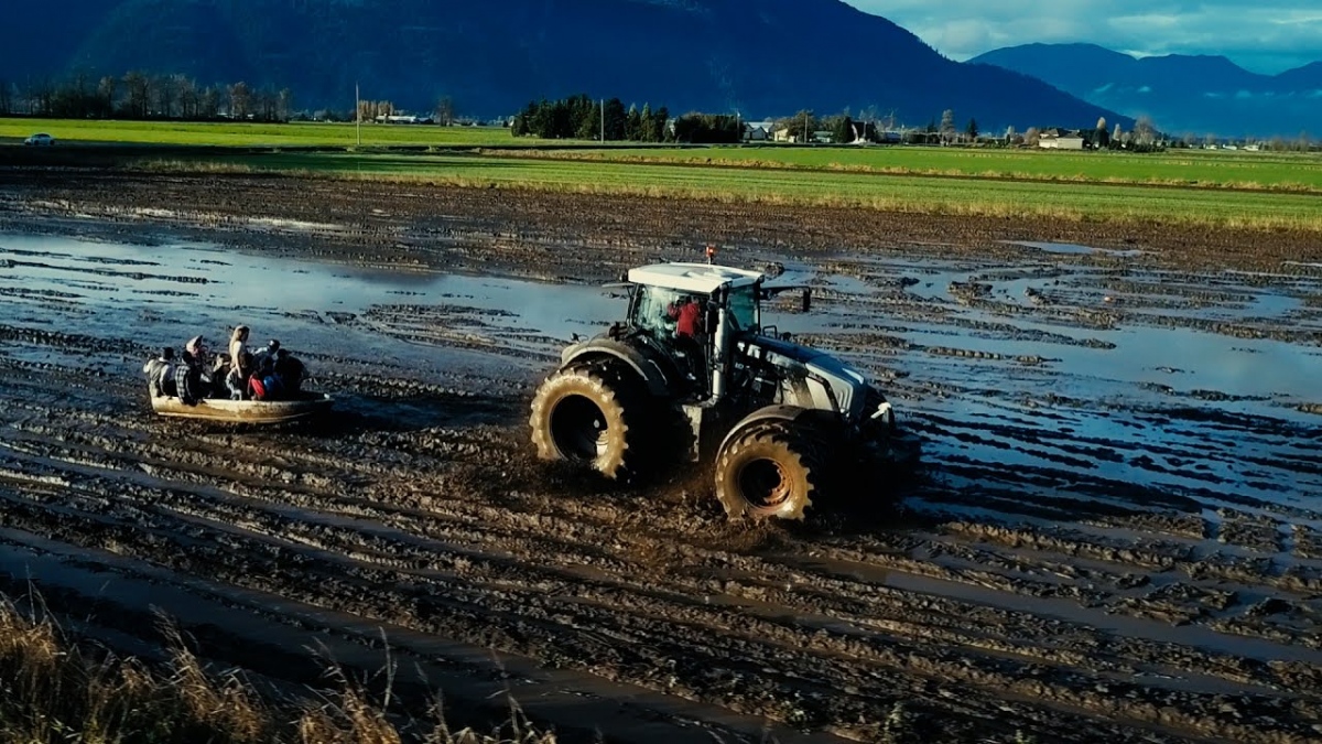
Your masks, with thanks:
[[[817,287],[773,322],[880,380],[917,473],[747,526],[705,471],[531,459],[599,285],[706,242]],[[0,295],[0,588],[116,649],[160,610],[567,740],[1322,740],[1315,236],[8,171]],[[152,349],[241,322],[338,416],[153,418]]]

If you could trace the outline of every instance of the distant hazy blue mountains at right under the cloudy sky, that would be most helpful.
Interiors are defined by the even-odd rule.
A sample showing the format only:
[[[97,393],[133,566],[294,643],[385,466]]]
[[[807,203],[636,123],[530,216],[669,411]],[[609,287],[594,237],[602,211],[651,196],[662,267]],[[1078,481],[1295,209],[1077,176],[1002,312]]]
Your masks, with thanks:
[[[1092,44],[1027,44],[969,64],[1036,77],[1104,109],[1149,116],[1173,135],[1322,135],[1322,62],[1263,75],[1225,57],[1136,58]]]

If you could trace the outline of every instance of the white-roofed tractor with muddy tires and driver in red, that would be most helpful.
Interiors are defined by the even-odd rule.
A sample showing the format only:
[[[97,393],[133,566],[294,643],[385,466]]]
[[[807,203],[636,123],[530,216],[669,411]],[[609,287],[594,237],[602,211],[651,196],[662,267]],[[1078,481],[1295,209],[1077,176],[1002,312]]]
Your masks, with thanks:
[[[711,256],[607,285],[627,291],[628,315],[562,352],[533,397],[533,443],[623,482],[714,462],[731,519],[802,519],[833,474],[890,454],[895,414],[863,375],[763,324],[764,301],[801,291],[806,312],[810,289]]]

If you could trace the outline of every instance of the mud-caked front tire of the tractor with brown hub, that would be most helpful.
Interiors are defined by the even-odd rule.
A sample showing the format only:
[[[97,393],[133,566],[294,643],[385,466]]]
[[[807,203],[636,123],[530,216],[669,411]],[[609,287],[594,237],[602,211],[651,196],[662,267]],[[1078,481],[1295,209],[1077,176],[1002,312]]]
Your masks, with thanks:
[[[813,506],[820,458],[806,429],[759,421],[736,433],[717,458],[717,498],[731,519],[802,519]]]

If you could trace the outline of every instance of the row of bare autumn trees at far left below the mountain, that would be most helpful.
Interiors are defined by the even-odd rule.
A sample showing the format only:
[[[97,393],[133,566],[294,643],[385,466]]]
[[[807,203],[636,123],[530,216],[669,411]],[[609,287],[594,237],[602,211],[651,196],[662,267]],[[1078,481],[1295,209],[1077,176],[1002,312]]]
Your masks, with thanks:
[[[93,78],[41,78],[25,87],[0,81],[0,115],[29,114],[59,119],[254,119],[287,122],[293,114],[290,89],[246,82],[200,85],[184,74],[128,71]]]

